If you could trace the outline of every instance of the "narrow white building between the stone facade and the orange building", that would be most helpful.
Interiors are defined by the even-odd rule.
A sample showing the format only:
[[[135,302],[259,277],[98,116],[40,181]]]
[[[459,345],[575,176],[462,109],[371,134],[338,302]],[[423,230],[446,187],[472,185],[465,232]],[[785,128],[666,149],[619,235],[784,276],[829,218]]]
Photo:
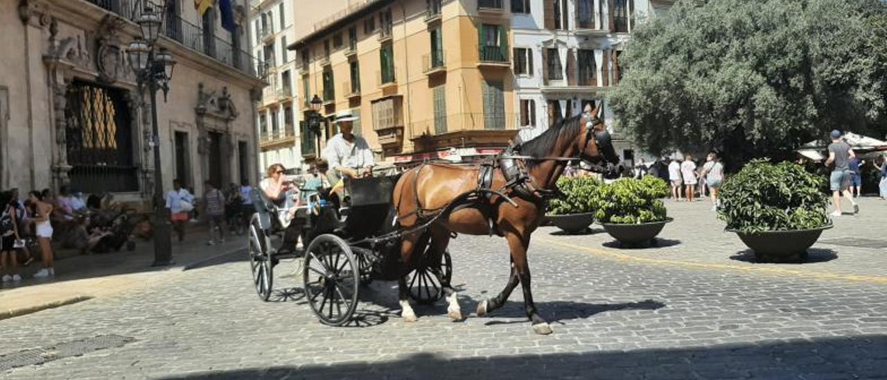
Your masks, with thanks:
[[[253,29],[253,55],[260,72],[270,83],[256,104],[259,162],[263,168],[282,163],[287,170],[302,168],[301,148],[296,141],[298,103],[295,97],[295,52],[287,51],[294,41],[293,0],[251,0],[249,25]]]

